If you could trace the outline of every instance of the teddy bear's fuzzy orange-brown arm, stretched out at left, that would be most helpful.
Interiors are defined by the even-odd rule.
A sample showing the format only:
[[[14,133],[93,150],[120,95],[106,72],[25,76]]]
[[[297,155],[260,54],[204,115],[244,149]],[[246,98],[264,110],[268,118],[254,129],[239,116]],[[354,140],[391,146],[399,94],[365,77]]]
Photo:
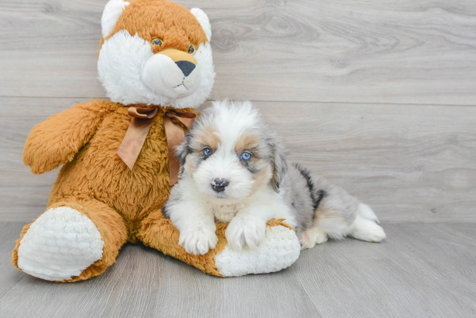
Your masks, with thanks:
[[[71,161],[110,110],[107,102],[91,100],[34,126],[25,142],[23,163],[40,174]]]

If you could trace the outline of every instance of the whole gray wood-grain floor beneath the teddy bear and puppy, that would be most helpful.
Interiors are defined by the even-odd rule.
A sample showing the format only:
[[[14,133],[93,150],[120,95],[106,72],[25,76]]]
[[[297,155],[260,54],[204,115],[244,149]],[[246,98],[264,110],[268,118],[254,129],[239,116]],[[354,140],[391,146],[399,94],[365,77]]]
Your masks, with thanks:
[[[0,223],[0,317],[474,317],[473,224],[384,224],[388,240],[329,241],[277,273],[218,278],[143,245],[104,274],[52,283],[18,271],[20,223]]]

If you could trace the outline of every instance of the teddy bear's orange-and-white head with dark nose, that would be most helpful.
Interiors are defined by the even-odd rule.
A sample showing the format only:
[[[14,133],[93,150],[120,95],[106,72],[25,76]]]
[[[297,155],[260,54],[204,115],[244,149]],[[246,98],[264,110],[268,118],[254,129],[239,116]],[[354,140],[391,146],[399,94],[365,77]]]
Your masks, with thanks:
[[[201,9],[168,0],[110,0],[101,26],[99,79],[112,101],[186,108],[210,96],[211,27]]]

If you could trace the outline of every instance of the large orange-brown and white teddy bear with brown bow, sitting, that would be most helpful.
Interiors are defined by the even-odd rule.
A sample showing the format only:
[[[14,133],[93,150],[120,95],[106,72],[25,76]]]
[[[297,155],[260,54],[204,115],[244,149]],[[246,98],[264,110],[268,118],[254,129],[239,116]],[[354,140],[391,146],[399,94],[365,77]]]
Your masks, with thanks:
[[[101,25],[98,72],[110,100],[74,105],[32,129],[25,165],[35,174],[63,167],[46,212],[23,228],[13,264],[45,280],[85,280],[140,240],[217,276],[291,265],[300,246],[283,220],[269,222],[260,247],[242,251],[226,245],[218,224],[217,247],[196,256],[161,212],[178,176],[173,146],[214,82],[206,14],[166,0],[111,0]]]

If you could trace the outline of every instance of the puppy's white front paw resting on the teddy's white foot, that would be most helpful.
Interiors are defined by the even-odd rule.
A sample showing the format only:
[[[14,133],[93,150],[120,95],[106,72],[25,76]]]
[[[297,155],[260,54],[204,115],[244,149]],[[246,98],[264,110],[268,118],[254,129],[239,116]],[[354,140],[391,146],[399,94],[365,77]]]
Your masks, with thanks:
[[[225,231],[226,241],[234,250],[241,250],[246,244],[254,248],[265,237],[266,222],[263,220],[233,218]]]

